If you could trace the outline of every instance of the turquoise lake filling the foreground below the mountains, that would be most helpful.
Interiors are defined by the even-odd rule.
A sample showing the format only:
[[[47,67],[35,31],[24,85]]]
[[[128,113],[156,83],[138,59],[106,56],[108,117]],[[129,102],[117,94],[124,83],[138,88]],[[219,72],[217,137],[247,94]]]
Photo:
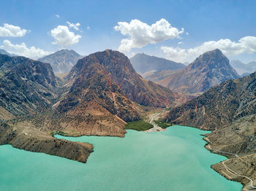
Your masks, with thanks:
[[[127,132],[124,138],[56,136],[94,144],[86,164],[0,146],[0,190],[241,190],[211,169],[225,157],[204,148],[206,131],[176,125]]]

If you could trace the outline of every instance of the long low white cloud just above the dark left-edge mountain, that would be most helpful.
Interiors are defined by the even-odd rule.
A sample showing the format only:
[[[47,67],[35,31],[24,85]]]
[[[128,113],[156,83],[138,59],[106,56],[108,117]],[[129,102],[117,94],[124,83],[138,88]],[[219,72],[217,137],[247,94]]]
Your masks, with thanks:
[[[34,59],[49,55],[51,53],[36,47],[27,47],[24,42],[21,44],[12,44],[12,42],[10,42],[9,40],[4,40],[3,45],[1,45],[0,47],[12,54],[23,55],[28,58]]]

